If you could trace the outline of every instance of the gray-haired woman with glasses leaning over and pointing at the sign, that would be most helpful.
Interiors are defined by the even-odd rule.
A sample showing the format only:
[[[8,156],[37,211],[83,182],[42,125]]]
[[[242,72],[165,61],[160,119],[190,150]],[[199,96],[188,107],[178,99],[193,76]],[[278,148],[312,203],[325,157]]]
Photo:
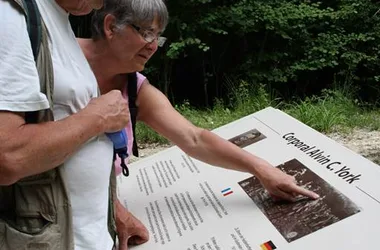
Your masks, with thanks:
[[[94,13],[93,38],[80,39],[79,43],[103,94],[118,89],[127,97],[127,73],[144,69],[163,41],[160,35],[167,20],[168,13],[162,0],[107,0],[105,6]],[[275,197],[287,200],[293,200],[297,195],[318,198],[317,194],[297,186],[293,177],[267,161],[191,124],[173,108],[165,95],[149,84],[148,79],[137,75],[137,119],[184,152],[211,165],[249,172],[257,176]],[[127,131],[131,131],[130,125]],[[132,136],[129,132],[129,138],[133,139]],[[129,145],[131,148],[131,142]],[[133,217],[129,220],[132,225],[129,228],[137,225],[129,235],[140,236],[140,242],[147,240],[142,225]]]

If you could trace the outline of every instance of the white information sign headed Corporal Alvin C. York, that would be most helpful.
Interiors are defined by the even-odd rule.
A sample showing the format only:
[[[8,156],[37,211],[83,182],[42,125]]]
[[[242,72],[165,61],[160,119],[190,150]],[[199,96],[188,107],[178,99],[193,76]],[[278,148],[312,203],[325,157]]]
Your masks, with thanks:
[[[130,164],[118,196],[150,232],[133,249],[378,249],[380,167],[280,110],[214,130],[296,177],[318,200],[275,202],[258,180],[178,147]]]

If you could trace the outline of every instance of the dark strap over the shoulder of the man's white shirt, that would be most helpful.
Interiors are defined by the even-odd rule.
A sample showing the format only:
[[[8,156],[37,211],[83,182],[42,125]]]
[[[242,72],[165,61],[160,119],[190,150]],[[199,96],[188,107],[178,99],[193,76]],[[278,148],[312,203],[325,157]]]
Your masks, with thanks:
[[[41,15],[38,11],[35,0],[22,0],[26,11],[26,23],[28,25],[29,39],[32,44],[34,60],[37,56],[41,45]]]

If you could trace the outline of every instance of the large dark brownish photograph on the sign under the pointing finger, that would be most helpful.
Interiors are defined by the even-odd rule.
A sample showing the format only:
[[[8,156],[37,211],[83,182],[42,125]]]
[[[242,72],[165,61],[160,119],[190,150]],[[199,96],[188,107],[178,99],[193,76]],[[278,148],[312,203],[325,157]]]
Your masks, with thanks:
[[[320,198],[299,198],[295,202],[275,201],[254,176],[240,181],[239,185],[288,242],[360,212],[348,197],[297,159],[277,168],[294,176],[298,185],[316,192]]]

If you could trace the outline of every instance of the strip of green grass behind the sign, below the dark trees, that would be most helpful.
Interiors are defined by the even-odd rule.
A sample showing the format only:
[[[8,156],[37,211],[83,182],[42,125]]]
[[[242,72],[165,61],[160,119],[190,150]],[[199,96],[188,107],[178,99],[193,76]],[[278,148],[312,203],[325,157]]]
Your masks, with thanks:
[[[189,102],[175,108],[196,126],[212,130],[263,108],[279,108],[319,132],[349,133],[352,128],[380,129],[380,110],[360,103],[347,89],[325,90],[320,96],[283,103],[270,95],[264,86],[255,88],[245,81],[232,88],[229,103],[217,100],[213,108],[197,110]],[[162,136],[142,123],[136,136],[143,143],[168,143]]]

